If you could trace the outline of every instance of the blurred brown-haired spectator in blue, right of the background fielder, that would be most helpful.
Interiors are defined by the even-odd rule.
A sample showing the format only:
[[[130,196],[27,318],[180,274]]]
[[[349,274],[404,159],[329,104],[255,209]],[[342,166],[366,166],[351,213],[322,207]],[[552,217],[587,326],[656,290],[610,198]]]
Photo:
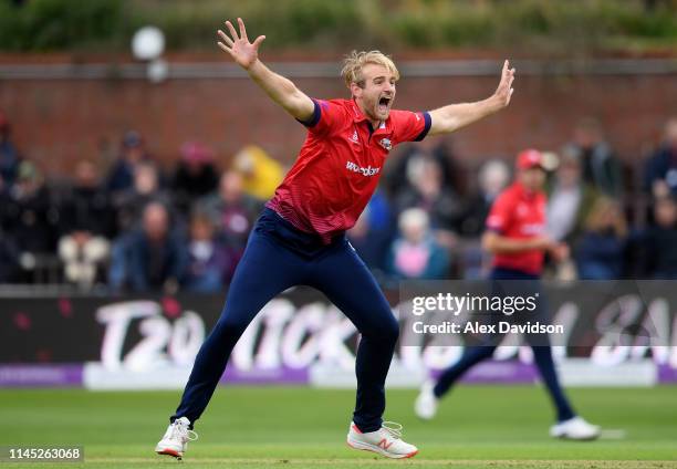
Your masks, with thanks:
[[[579,278],[621,279],[625,267],[626,243],[627,226],[618,202],[600,197],[591,209],[585,231],[576,247]]]

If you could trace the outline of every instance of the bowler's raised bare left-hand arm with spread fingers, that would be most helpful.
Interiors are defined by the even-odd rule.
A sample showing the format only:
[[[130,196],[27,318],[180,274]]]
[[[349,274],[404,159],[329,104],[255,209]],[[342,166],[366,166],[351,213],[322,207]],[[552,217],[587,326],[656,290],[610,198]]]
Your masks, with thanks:
[[[258,37],[254,42],[249,42],[244,22],[238,18],[240,34],[230,21],[226,21],[226,27],[230,35],[219,30],[221,41],[217,44],[228,52],[238,65],[249,73],[249,76],[263,88],[263,91],[284,111],[301,122],[312,118],[315,104],[302,91],[300,91],[290,80],[278,75],[259,60],[259,46],[265,39],[264,35]]]

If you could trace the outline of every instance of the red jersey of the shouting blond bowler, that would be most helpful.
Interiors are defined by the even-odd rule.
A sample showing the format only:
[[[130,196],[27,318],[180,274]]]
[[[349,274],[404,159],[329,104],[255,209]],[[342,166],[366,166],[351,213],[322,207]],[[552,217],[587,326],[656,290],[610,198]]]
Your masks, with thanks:
[[[388,153],[402,142],[421,140],[430,129],[430,115],[393,110],[372,132],[354,101],[313,102],[313,117],[303,123],[309,132],[299,158],[265,206],[330,243],[355,225],[378,185]]]

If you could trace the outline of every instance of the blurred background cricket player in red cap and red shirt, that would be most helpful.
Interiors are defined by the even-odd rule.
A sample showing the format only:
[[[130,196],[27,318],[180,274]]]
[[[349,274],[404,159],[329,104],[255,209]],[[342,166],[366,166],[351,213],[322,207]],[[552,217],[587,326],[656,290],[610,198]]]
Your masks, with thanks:
[[[506,293],[510,289],[512,293],[517,290],[522,294],[539,291],[545,252],[555,261],[569,257],[567,246],[551,240],[544,231],[544,183],[543,155],[535,149],[521,152],[517,158],[517,180],[497,197],[487,217],[482,248],[493,254],[490,279],[497,292]],[[538,310],[538,315],[546,316],[544,306],[540,305]],[[531,343],[537,367],[556,408],[558,423],[551,427],[550,435],[574,440],[597,438],[600,427],[576,416],[560,386],[548,335],[527,336],[527,340]],[[456,365],[441,374],[437,383],[425,383],[414,406],[416,415],[431,419],[437,413],[439,399],[468,369],[491,357],[496,343],[469,347]]]

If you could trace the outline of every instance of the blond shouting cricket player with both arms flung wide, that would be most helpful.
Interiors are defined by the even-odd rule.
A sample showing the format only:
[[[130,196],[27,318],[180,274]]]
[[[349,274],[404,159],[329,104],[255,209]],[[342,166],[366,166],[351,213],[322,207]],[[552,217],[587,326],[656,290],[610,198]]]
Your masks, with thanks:
[[[294,166],[265,205],[230,284],[223,312],[197,354],[181,402],[156,452],[181,457],[223,374],[232,348],[259,310],[293,285],[322,291],[361,333],[355,372],[357,398],[347,442],[388,458],[418,449],[402,439],[402,426],[384,424],[384,383],[399,326],[388,302],[345,231],[355,225],[393,148],[448,134],[508,105],[514,69],[504,62],[487,100],[430,112],[393,110],[399,72],[378,51],[353,52],[342,71],[348,100],[314,100],[259,59],[265,39],[253,42],[241,19],[218,31],[221,48],[270,98],[308,128]]]

